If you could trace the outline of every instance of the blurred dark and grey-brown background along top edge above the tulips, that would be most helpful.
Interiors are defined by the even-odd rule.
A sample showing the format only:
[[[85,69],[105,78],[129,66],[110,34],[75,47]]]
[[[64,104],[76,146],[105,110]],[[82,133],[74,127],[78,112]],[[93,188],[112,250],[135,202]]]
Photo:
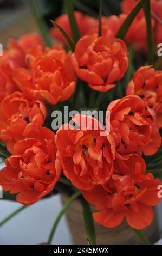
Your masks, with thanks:
[[[98,17],[99,0],[73,0],[75,10]],[[103,2],[103,15],[120,13],[120,0],[105,0]],[[18,36],[36,32],[36,7],[41,14],[47,28],[53,26],[50,19],[55,20],[65,12],[63,0],[0,0],[0,41],[5,45],[9,38],[17,39]]]

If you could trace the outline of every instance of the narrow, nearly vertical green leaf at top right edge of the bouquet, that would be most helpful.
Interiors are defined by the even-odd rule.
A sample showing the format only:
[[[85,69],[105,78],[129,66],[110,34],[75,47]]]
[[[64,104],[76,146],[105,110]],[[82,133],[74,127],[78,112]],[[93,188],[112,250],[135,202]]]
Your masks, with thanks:
[[[147,47],[148,47],[148,63],[153,65],[154,63],[154,49],[153,49],[153,32],[152,32],[152,23],[151,23],[151,3],[150,0],[146,2],[143,7],[146,27],[147,27]]]

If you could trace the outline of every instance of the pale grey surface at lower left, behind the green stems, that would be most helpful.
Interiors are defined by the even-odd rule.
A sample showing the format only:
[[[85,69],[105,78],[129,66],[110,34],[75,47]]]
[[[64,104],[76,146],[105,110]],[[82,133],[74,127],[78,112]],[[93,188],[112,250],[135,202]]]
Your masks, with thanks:
[[[0,200],[0,222],[21,204]],[[54,220],[61,210],[60,196],[41,200],[28,206],[0,228],[0,244],[37,244],[47,242]],[[72,244],[72,239],[63,216],[55,233],[53,244]]]

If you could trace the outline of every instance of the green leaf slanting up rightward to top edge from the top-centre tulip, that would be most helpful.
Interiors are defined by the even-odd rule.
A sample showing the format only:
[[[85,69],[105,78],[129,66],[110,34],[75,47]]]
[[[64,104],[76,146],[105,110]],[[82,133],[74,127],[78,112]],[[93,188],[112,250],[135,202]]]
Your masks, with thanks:
[[[116,38],[124,39],[129,27],[131,26],[133,20],[138,15],[139,11],[144,7],[144,4],[149,0],[140,0],[137,5],[135,5],[134,9],[129,13],[126,20],[122,23],[119,31],[116,34]]]

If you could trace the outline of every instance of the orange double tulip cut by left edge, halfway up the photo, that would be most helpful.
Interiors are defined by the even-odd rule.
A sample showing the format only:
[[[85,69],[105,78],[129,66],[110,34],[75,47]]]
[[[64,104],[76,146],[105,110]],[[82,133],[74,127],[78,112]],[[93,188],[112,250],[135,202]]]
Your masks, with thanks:
[[[7,142],[13,153],[14,143],[25,137],[25,132],[42,126],[46,118],[46,107],[41,101],[34,101],[21,92],[15,92],[3,99],[0,105],[0,139]]]

